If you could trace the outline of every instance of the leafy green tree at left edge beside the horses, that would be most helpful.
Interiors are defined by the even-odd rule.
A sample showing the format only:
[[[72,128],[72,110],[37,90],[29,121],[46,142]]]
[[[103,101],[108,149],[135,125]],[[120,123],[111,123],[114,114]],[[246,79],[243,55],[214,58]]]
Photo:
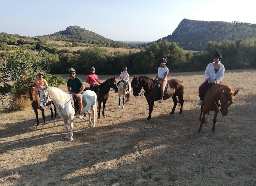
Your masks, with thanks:
[[[19,106],[18,101],[24,95],[25,97],[28,95],[27,85],[32,84],[38,76],[38,72],[42,71],[49,59],[50,55],[43,50],[34,55],[31,51],[24,53],[19,47],[9,56],[0,57],[0,72],[2,73],[0,82],[4,83],[0,94],[9,98],[11,109],[23,109]],[[51,77],[51,74],[47,74],[47,76],[49,80],[52,80],[48,83],[50,86],[66,83],[61,80],[61,77]]]

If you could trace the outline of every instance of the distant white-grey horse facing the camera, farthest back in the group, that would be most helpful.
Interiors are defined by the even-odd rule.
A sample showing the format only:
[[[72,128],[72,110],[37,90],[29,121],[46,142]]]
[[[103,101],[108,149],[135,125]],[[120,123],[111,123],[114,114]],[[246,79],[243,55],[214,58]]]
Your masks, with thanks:
[[[126,81],[125,79],[122,79],[118,85],[118,97],[119,97],[118,108],[119,109],[121,108],[120,107],[120,101],[121,101],[120,96],[124,95],[123,96],[123,107],[122,107],[122,109],[124,109],[125,108],[124,102],[127,103],[127,101],[128,101],[128,103],[130,103],[130,93],[131,93],[131,84],[128,81]]]

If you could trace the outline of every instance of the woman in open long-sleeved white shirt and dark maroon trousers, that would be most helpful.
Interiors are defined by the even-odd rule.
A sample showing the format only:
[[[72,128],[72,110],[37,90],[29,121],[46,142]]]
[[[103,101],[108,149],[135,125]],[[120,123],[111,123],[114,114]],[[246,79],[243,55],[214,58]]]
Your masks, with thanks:
[[[211,83],[222,83],[222,78],[224,77],[225,67],[220,62],[221,54],[216,53],[213,55],[213,62],[208,64],[205,69],[205,82],[198,88],[198,93],[200,100],[196,103],[197,105],[202,104],[202,100],[204,99],[203,91],[206,89]]]

